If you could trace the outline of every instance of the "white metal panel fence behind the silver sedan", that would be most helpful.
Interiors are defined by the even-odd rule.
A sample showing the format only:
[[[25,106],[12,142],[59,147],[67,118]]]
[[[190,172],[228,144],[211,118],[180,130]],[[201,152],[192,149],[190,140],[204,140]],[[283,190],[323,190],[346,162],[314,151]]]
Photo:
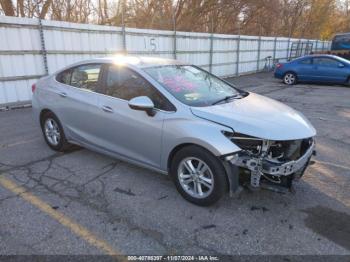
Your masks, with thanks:
[[[265,58],[286,60],[293,42],[313,50],[329,42],[284,37],[189,33],[75,24],[0,16],[0,105],[28,103],[41,76],[82,59],[127,52],[176,58],[219,76],[264,68]]]

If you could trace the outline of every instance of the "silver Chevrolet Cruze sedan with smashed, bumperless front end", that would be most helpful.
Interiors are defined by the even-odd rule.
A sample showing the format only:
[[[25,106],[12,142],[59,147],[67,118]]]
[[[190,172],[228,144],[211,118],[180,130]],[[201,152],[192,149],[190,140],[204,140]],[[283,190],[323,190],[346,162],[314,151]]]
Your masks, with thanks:
[[[299,112],[190,64],[117,56],[64,68],[32,86],[47,144],[72,144],[170,174],[188,201],[288,188],[314,152]]]

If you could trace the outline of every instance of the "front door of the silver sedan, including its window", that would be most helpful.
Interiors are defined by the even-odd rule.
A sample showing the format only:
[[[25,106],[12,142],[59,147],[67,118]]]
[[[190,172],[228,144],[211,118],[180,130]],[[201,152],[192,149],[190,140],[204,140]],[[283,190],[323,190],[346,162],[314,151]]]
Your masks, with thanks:
[[[99,96],[101,145],[108,151],[159,168],[163,120],[174,111],[170,102],[145,78],[130,68],[108,65]],[[156,114],[133,110],[128,101],[148,96]]]

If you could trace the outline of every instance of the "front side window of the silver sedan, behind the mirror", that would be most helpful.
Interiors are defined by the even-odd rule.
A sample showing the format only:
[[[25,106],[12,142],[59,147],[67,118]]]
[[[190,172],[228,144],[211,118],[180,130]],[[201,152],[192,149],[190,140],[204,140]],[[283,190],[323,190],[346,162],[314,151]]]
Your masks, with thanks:
[[[125,67],[108,67],[105,94],[127,101],[137,96],[148,96],[156,108],[175,111],[175,107],[146,79]]]

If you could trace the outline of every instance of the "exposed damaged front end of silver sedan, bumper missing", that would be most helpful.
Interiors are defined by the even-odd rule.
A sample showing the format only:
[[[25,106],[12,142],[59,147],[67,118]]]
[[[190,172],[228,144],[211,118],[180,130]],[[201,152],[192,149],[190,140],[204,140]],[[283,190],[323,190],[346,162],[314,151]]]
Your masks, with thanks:
[[[267,188],[283,192],[293,180],[303,175],[310,158],[315,154],[311,138],[272,141],[239,133],[224,133],[242,150],[226,156],[225,160],[241,169],[241,183],[250,188]]]

